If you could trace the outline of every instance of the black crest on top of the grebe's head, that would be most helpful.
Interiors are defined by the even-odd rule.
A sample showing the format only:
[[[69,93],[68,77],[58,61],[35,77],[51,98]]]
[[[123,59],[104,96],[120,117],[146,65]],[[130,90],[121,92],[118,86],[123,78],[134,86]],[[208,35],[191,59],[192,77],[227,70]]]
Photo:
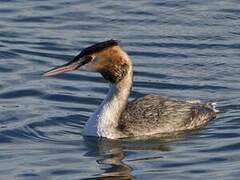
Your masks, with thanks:
[[[109,48],[112,46],[118,46],[118,45],[119,45],[118,41],[113,40],[113,39],[104,41],[104,42],[100,42],[100,43],[96,43],[90,47],[83,49],[82,52],[78,55],[78,58],[81,58],[86,55],[90,55],[92,53],[102,51],[103,49],[106,49],[106,48]]]

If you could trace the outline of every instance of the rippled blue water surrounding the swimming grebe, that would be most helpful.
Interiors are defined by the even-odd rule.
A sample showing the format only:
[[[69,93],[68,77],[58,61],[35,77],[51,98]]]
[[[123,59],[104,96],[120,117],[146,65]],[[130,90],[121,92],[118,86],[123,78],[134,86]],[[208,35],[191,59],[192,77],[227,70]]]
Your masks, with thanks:
[[[0,179],[238,179],[238,0],[2,0]],[[42,73],[93,43],[130,54],[131,98],[214,101],[206,127],[166,138],[84,139],[108,85],[98,74]]]

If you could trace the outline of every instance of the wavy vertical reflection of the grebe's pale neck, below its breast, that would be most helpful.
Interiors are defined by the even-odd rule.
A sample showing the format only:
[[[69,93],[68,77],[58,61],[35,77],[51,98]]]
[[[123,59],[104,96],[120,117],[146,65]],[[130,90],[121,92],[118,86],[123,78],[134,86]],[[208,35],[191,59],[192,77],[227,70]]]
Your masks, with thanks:
[[[124,152],[121,140],[85,137],[88,148],[86,156],[97,157],[97,163],[104,172],[97,179],[134,179],[132,168],[123,162]],[[108,166],[109,165],[109,166]]]

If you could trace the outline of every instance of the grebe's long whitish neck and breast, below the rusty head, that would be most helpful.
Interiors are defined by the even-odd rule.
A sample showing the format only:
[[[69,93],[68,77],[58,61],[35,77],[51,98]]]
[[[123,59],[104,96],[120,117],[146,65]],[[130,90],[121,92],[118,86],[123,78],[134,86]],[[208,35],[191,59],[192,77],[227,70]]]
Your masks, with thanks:
[[[106,138],[119,138],[118,121],[125,110],[132,87],[133,70],[129,62],[126,76],[117,84],[110,84],[106,98],[96,109],[84,127],[84,134]]]

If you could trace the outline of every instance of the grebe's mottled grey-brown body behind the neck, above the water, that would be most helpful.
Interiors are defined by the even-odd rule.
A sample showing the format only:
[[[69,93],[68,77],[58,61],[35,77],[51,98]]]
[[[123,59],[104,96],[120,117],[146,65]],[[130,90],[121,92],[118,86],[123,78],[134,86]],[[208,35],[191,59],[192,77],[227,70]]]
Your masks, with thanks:
[[[127,136],[198,128],[216,117],[212,104],[191,103],[147,95],[128,103],[118,129]]]

